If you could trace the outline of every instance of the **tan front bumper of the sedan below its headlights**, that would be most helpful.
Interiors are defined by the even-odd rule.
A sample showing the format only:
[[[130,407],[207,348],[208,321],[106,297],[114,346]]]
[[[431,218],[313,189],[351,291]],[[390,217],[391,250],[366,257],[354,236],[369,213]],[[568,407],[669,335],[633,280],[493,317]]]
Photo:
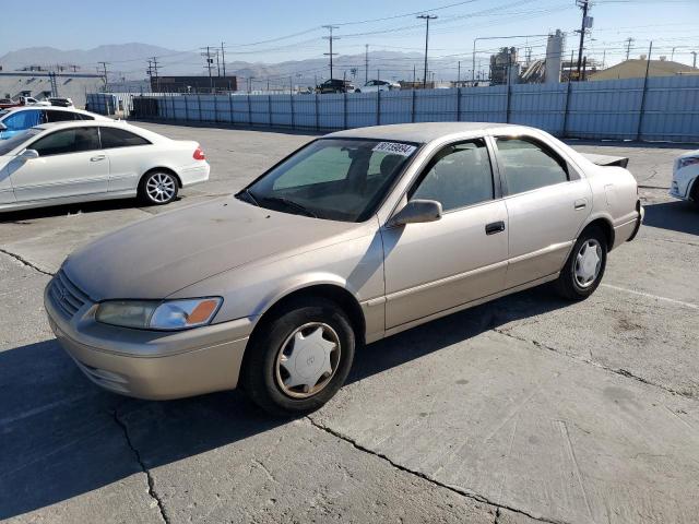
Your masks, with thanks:
[[[95,321],[94,302],[67,314],[50,293],[52,283],[44,294],[51,330],[95,384],[149,400],[181,398],[237,385],[250,319],[179,332],[111,326]]]

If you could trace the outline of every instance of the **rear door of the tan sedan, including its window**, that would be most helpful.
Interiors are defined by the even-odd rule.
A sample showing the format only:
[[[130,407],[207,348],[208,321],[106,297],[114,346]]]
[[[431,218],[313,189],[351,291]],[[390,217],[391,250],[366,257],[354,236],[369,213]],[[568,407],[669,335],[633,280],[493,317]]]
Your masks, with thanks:
[[[497,136],[495,143],[510,227],[509,288],[560,271],[590,213],[592,191],[536,138]]]

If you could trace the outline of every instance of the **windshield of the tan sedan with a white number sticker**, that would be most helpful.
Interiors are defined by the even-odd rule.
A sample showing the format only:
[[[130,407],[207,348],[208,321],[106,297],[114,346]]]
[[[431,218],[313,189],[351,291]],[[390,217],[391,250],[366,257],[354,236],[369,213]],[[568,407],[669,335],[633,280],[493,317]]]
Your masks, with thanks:
[[[318,140],[254,181],[237,196],[286,213],[364,222],[417,145],[378,140]]]

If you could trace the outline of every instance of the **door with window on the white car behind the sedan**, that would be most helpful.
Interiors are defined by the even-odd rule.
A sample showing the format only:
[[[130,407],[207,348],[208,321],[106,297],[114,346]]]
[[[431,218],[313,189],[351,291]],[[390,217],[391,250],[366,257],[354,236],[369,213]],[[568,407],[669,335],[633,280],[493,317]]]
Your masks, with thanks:
[[[107,192],[109,160],[99,148],[96,127],[58,130],[27,148],[36,150],[39,157],[21,160],[11,170],[17,202]]]

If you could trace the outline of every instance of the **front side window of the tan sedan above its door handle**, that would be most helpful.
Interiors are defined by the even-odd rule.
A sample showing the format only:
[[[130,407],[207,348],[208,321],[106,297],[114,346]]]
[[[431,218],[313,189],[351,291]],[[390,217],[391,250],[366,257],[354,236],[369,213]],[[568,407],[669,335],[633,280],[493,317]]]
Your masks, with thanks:
[[[436,200],[443,211],[493,200],[493,169],[485,141],[453,144],[441,150],[410,199]]]

